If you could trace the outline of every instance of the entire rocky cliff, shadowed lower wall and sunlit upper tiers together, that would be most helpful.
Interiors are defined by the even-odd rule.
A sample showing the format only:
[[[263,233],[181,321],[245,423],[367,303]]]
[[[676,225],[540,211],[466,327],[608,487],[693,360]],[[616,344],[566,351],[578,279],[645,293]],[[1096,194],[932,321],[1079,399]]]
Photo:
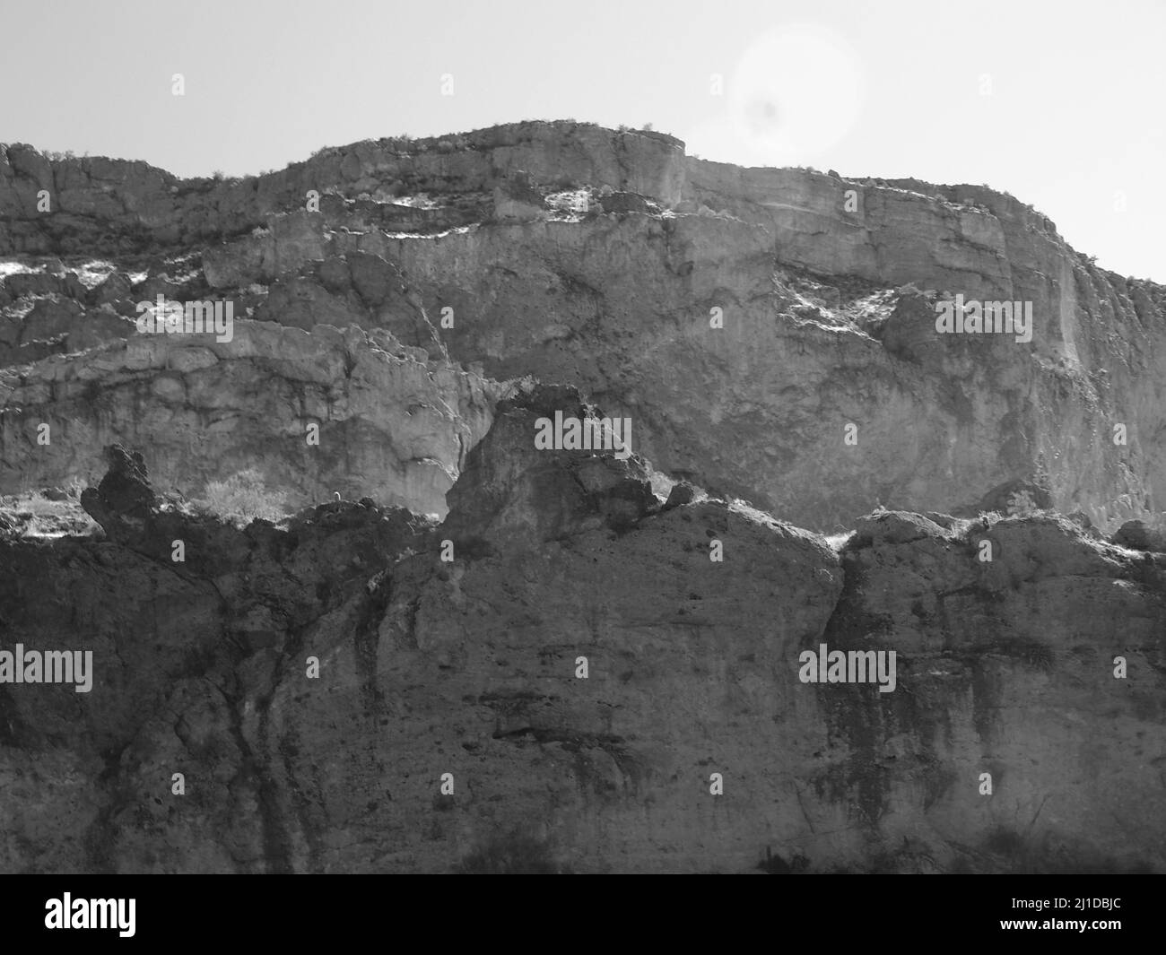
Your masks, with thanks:
[[[0,653],[93,654],[0,681],[0,870],[1161,871],[1164,317],[1010,196],[654,133],[0,148],[0,493],[101,528],[0,501]],[[188,504],[247,470],[303,510]]]

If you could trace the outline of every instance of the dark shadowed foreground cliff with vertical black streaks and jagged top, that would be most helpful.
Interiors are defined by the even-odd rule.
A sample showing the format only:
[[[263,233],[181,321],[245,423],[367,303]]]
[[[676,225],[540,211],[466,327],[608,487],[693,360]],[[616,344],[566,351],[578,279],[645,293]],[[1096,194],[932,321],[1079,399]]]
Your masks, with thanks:
[[[0,695],[3,868],[1166,865],[1166,555],[900,512],[836,553],[661,506],[634,457],[535,461],[552,408],[578,395],[499,406],[441,527],[240,532],[115,454],[83,498],[107,540],[0,545],[6,644],[94,651],[89,694]],[[893,690],[802,682],[822,644],[897,649]]]

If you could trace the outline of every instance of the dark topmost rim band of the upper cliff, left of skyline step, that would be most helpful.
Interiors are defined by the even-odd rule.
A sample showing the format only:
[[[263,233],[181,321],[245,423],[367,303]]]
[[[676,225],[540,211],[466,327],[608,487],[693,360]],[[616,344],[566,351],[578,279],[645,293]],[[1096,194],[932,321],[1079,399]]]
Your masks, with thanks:
[[[240,234],[273,212],[302,209],[309,190],[343,198],[366,196],[363,211],[386,226],[478,220],[480,204],[508,174],[538,182],[588,182],[680,198],[683,143],[662,133],[616,135],[589,124],[518,122],[440,140],[365,140],[319,150],[308,162],[241,182],[180,180],[143,162],[50,161],[30,146],[0,153],[0,254],[148,252]],[[41,191],[50,208],[38,210]],[[384,204],[408,190],[457,196],[455,209],[430,217]],[[351,194],[351,196],[350,196]],[[329,208],[325,199],[322,211]],[[398,219],[393,219],[393,217]]]

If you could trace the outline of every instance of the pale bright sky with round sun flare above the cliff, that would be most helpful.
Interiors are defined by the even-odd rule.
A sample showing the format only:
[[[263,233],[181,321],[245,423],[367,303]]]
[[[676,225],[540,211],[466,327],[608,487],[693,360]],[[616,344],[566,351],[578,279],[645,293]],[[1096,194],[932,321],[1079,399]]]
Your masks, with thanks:
[[[985,183],[1166,282],[1166,0],[0,6],[5,142],[244,175],[400,133],[651,122],[704,159]]]

